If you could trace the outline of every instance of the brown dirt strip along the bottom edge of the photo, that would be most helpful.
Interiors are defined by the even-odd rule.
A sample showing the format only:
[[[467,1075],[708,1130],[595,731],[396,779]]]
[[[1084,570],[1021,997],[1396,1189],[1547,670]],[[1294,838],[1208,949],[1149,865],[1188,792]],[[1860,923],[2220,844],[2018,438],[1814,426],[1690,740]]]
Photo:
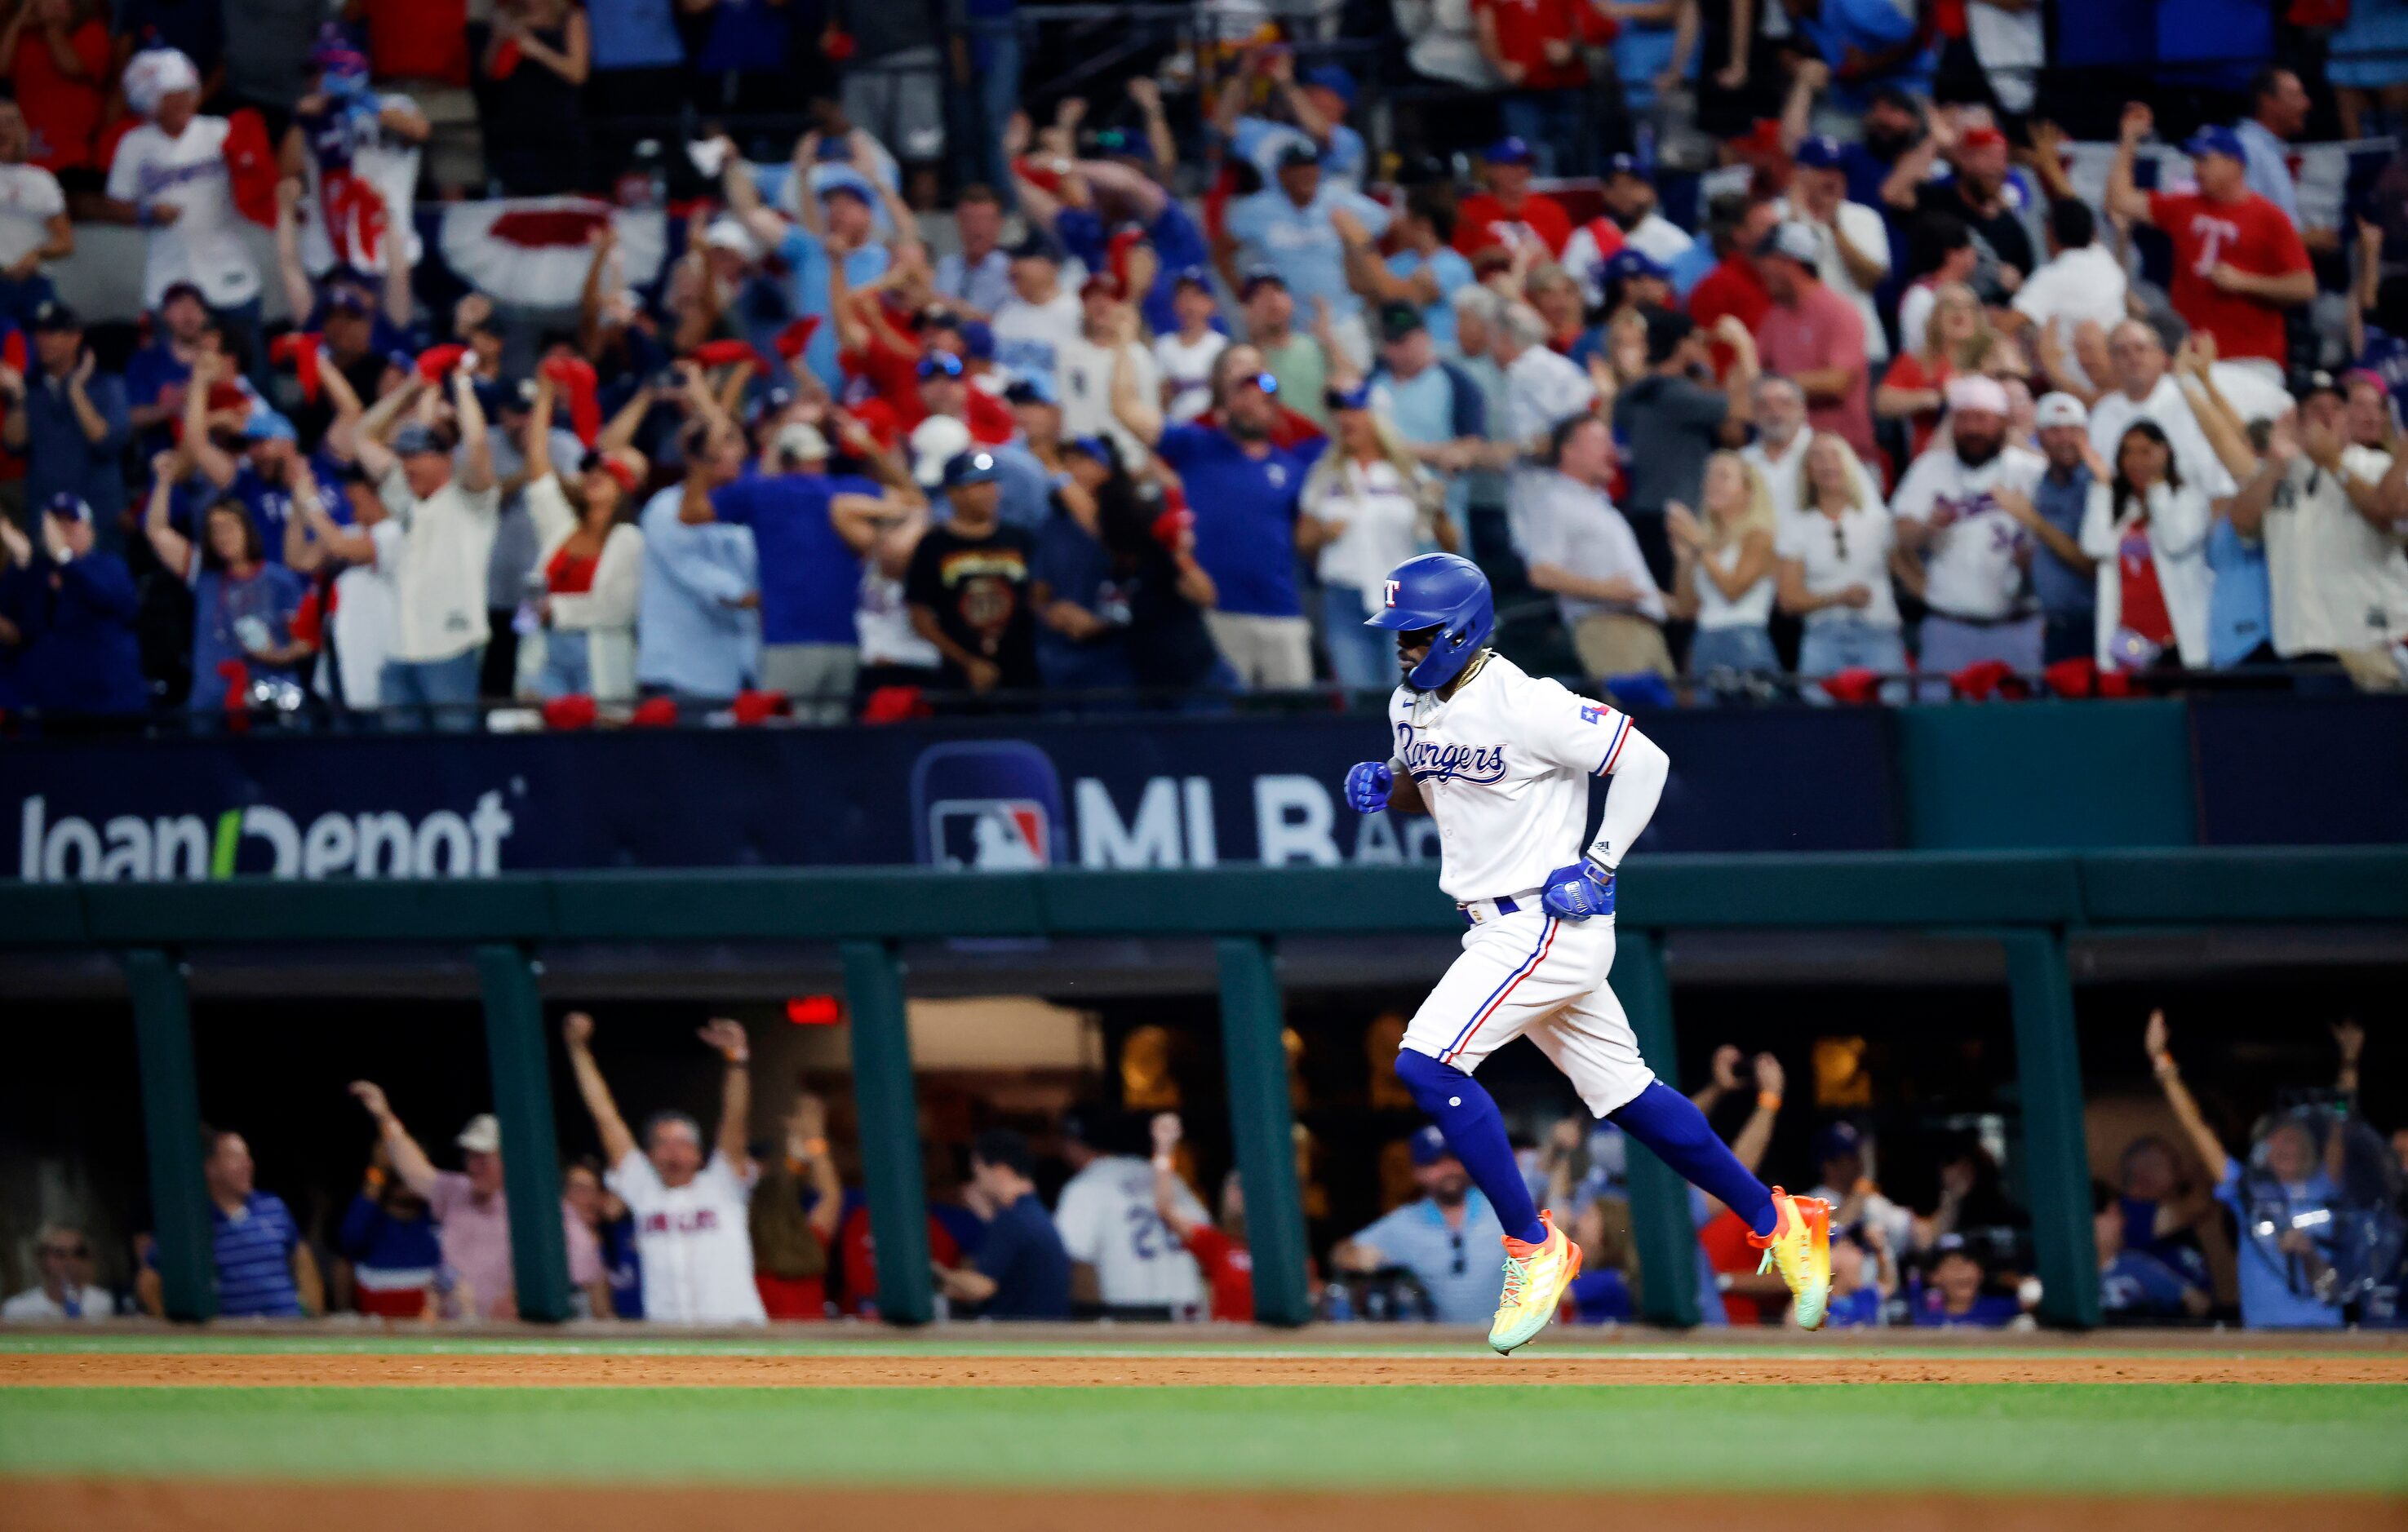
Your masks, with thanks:
[[[1394,1493],[1057,1493],[1057,1491],[843,1491],[843,1489],[549,1489],[395,1484],[214,1484],[10,1479],[0,1532],[795,1532],[795,1527],[978,1527],[980,1532],[1459,1532],[1495,1520],[1488,1496]],[[1517,1496],[1515,1518],[1539,1525],[1763,1532],[1780,1520],[1743,1496]],[[2288,1498],[1984,1498],[1849,1496],[1849,1532],[2264,1532],[2312,1515],[2316,1532],[2401,1532],[2396,1501]],[[1820,1515],[1816,1520],[1823,1520]]]

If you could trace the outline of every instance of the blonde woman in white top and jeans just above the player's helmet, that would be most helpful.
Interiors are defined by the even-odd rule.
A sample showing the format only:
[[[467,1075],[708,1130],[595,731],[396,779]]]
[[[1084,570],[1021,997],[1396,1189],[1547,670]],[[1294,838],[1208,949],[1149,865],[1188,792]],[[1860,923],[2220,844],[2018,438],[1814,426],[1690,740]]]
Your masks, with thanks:
[[[1397,646],[1363,621],[1380,607],[1387,571],[1413,554],[1457,547],[1447,487],[1413,458],[1363,385],[1329,390],[1329,450],[1298,499],[1296,549],[1322,581],[1322,641],[1348,691],[1389,691]]]

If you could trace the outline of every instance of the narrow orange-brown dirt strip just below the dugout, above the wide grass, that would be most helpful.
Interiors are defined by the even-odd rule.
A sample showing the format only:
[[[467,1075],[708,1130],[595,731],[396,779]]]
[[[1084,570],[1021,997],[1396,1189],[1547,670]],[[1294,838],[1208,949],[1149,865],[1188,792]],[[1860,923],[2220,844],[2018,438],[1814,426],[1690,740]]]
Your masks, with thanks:
[[[0,1387],[1209,1387],[1397,1383],[2408,1383],[2408,1354],[645,1356],[0,1354]]]

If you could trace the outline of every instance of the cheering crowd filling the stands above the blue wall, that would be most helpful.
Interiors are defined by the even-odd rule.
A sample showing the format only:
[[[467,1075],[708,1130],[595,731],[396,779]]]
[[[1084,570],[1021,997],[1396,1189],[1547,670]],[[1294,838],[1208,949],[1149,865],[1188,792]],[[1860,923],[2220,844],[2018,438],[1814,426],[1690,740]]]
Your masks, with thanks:
[[[1375,691],[1430,547],[1635,703],[2408,684],[2408,159],[2288,152],[2396,132],[2374,14],[2085,195],[2003,0],[1206,7],[1110,104],[1009,0],[470,10],[7,7],[0,708]],[[554,308],[414,217],[556,193]]]

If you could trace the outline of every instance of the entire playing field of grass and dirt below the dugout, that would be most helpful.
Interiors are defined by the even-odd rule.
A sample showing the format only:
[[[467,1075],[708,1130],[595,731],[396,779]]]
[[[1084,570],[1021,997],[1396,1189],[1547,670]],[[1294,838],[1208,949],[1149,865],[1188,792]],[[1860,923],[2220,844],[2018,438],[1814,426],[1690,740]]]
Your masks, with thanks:
[[[0,1525],[1413,1530],[1505,1491],[1717,1530],[1806,1496],[1873,1532],[2357,1532],[2408,1503],[2398,1337],[1361,1334],[10,1337]]]

